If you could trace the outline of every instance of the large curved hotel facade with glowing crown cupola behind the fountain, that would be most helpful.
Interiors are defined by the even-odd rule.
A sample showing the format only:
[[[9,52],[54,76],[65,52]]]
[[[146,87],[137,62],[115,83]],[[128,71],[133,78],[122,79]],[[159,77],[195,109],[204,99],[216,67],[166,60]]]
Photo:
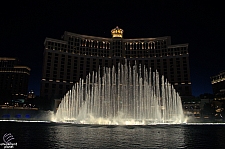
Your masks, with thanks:
[[[111,30],[112,38],[64,32],[62,40],[46,38],[41,96],[58,99],[80,78],[103,66],[125,59],[157,70],[181,96],[191,96],[188,44],[171,45],[171,38],[124,39],[123,30]]]

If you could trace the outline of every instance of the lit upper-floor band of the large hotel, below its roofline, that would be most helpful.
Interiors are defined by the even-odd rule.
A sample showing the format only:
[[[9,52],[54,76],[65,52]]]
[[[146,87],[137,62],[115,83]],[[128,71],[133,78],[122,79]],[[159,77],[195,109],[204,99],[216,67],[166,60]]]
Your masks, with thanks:
[[[160,57],[187,54],[187,47],[168,48],[166,41],[134,41],[123,42],[121,40],[96,41],[69,37],[68,46],[64,43],[46,42],[46,48],[59,50],[79,55],[104,56],[104,57]],[[93,44],[93,45],[92,45]],[[110,50],[109,50],[110,49]]]

